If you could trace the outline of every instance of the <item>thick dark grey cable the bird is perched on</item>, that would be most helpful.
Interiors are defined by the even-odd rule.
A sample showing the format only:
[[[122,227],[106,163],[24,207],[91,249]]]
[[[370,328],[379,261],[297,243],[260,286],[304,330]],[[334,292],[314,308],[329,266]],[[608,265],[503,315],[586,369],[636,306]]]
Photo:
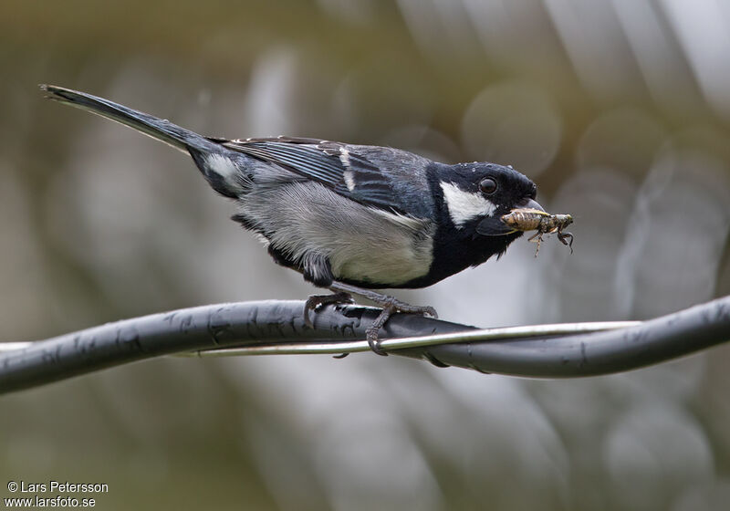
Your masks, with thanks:
[[[314,315],[314,328],[308,328],[303,307],[302,301],[264,301],[187,308],[0,351],[0,394],[173,353],[282,343],[349,343],[364,339],[365,329],[380,310],[329,306]],[[381,339],[473,330],[447,321],[399,314],[382,329]],[[728,339],[730,297],[723,297],[627,328],[559,337],[526,335],[469,342],[450,339],[448,344],[390,352],[482,372],[573,378],[637,369]]]

